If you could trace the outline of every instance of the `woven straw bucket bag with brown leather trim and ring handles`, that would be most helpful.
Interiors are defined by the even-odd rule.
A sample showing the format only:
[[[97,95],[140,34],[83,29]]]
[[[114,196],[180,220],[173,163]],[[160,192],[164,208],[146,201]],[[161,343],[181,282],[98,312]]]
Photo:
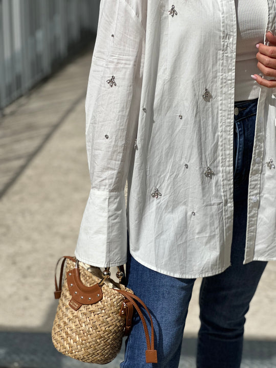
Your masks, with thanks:
[[[61,260],[61,259],[60,259]],[[65,260],[66,274],[62,285]],[[118,274],[122,277],[122,274]],[[63,257],[59,285],[60,298],[52,329],[55,348],[62,354],[88,363],[106,364],[120,352],[122,339],[131,328],[133,307],[139,313],[147,340],[146,362],[156,363],[154,331],[151,341],[144,316],[134,299],[149,313],[133,291],[110,279],[109,269],[80,264],[73,257]]]

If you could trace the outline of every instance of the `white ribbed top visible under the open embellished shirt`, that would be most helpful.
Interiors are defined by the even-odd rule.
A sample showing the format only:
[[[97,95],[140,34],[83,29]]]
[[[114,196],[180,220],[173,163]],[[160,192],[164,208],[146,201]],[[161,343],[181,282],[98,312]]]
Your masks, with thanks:
[[[267,0],[235,0],[237,13],[237,50],[235,101],[259,97],[259,84],[251,74],[262,75],[257,67],[256,44],[264,41]]]

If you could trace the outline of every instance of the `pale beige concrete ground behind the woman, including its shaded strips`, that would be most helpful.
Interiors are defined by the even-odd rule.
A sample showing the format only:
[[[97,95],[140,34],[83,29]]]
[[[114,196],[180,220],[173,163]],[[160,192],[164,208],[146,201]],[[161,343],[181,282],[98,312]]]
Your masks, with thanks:
[[[0,122],[0,368],[84,366],[55,352],[50,331],[57,307],[55,264],[74,254],[90,189],[84,98],[91,53],[11,105]],[[276,367],[275,281],[271,262],[247,314],[243,368]],[[199,285],[180,367],[195,367]],[[106,366],[118,368],[122,354]]]

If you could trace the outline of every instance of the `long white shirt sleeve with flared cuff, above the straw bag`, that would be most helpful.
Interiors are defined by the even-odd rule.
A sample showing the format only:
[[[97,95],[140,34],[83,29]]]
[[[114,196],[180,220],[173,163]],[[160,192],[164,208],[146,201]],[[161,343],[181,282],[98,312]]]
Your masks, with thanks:
[[[124,264],[124,188],[140,110],[145,30],[130,2],[102,0],[89,74],[86,148],[91,190],[75,255],[82,262]]]

